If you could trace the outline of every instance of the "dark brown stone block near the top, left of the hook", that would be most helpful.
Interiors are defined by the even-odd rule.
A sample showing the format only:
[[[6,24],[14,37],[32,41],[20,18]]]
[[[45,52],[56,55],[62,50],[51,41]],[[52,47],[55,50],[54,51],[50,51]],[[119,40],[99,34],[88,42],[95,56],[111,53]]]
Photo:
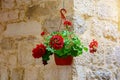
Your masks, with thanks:
[[[28,19],[36,19],[41,16],[51,15],[52,12],[55,13],[58,2],[56,1],[47,1],[39,5],[33,5],[28,7],[25,15]]]

